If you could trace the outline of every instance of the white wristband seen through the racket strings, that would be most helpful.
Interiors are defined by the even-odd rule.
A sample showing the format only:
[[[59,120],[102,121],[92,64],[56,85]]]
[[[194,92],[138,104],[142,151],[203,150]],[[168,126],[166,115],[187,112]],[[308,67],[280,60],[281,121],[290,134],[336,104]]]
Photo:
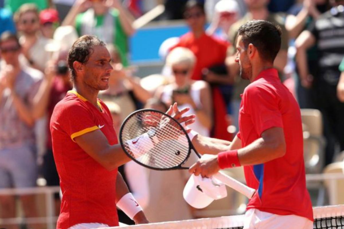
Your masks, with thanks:
[[[152,139],[148,133],[144,133],[134,139],[127,141],[130,151],[134,154],[135,158],[141,157],[144,153],[148,152],[154,147]]]

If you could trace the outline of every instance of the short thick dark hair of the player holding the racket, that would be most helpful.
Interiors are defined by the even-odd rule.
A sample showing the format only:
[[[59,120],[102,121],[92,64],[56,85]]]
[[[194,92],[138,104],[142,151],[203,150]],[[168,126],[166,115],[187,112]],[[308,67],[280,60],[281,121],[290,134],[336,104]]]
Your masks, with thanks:
[[[281,28],[264,20],[252,20],[239,27],[245,48],[253,44],[264,60],[274,61],[281,48]]]

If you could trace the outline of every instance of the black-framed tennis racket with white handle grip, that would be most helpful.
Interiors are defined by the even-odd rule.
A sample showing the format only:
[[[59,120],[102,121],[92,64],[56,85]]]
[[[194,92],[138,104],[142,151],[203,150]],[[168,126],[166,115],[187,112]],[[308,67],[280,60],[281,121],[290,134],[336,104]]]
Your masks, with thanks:
[[[131,113],[123,122],[119,133],[124,152],[140,165],[154,170],[189,169],[183,164],[193,150],[183,126],[173,117],[153,109]],[[243,183],[219,171],[214,178],[251,198],[255,193]]]

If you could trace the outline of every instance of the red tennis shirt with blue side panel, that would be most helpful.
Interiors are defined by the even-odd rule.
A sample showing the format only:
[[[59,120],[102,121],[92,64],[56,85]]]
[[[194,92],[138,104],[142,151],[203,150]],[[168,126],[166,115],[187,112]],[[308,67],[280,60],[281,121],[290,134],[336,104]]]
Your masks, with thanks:
[[[244,90],[239,110],[242,147],[251,144],[272,127],[282,127],[286,154],[275,160],[245,166],[247,185],[257,192],[247,209],[256,208],[278,215],[298,215],[313,221],[306,188],[300,108],[281,83],[276,69],[261,71]]]

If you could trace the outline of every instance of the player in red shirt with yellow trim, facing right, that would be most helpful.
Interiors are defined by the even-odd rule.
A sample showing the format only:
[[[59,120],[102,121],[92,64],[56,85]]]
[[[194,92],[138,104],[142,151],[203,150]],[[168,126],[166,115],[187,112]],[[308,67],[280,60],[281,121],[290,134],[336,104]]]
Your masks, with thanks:
[[[57,229],[118,226],[116,206],[136,224],[148,222],[117,172],[130,159],[117,142],[109,109],[97,99],[109,87],[110,61],[105,44],[90,35],[77,39],[68,54],[74,88],[57,103],[50,122],[62,191]],[[184,111],[175,118],[187,125],[193,116],[179,118]]]

